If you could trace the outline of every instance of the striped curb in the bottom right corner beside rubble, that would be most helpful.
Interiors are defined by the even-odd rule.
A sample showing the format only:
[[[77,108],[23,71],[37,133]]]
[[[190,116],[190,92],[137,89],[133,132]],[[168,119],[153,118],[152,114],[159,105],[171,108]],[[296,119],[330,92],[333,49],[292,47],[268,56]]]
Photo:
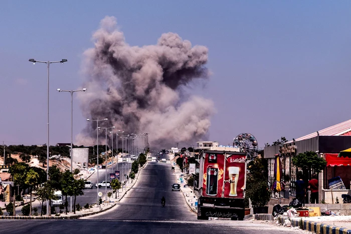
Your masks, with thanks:
[[[284,224],[285,220],[289,219],[292,226],[299,226],[299,222],[302,218],[293,217],[278,217],[281,224]],[[318,234],[351,234],[351,229],[346,227],[339,227],[330,224],[324,224],[317,221],[302,220],[303,230],[308,230]]]

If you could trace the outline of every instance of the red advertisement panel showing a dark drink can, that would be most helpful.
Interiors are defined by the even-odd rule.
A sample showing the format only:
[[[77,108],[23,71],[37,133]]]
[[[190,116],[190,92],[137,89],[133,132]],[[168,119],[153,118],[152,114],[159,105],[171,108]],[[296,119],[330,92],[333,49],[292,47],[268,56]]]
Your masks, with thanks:
[[[224,155],[206,153],[204,160],[203,196],[222,197]]]

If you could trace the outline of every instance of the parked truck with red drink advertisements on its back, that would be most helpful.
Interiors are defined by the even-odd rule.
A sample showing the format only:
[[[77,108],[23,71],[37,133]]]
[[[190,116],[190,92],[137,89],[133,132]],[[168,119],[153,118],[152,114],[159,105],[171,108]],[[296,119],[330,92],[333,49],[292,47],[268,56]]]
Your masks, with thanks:
[[[198,219],[243,220],[247,154],[234,147],[211,147],[200,155]]]

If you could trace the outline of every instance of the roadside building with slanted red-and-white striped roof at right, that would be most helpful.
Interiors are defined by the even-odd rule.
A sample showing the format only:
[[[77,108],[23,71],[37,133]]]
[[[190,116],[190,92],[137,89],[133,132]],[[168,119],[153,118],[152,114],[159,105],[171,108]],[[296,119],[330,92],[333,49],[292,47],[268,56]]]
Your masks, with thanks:
[[[319,173],[318,176],[319,201],[322,199],[325,200],[325,194],[330,191],[328,179],[332,177],[342,175],[346,189],[350,189],[351,175],[347,175],[344,171],[349,170],[351,166],[344,166],[342,168],[332,166],[331,163],[328,162],[329,159],[325,157],[326,154],[337,154],[348,148],[351,148],[351,119],[293,139],[283,145],[266,146],[264,147],[264,158],[268,161],[270,186],[274,182],[275,157],[279,155],[282,163],[282,181],[285,183],[286,190],[288,191],[279,195],[285,198],[295,196],[294,184],[297,179],[296,174],[298,168],[292,165],[291,158],[299,153],[313,151],[327,161],[326,168],[322,173]],[[277,194],[274,193],[272,196],[276,197]]]

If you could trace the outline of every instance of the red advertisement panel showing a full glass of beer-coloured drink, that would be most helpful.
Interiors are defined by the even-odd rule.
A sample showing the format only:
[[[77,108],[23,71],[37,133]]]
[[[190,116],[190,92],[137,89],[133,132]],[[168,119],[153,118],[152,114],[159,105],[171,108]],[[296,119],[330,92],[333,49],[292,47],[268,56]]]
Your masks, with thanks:
[[[227,154],[224,197],[244,198],[246,155]]]

